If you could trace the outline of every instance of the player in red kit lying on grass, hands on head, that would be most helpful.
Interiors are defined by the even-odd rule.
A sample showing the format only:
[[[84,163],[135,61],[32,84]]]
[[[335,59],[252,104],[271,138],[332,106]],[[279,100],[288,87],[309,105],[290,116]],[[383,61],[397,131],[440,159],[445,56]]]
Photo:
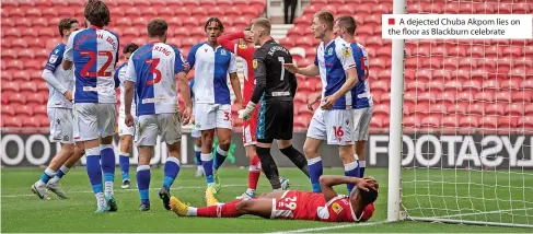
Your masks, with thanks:
[[[264,194],[256,199],[218,203],[212,189],[206,190],[209,207],[194,208],[171,198],[171,208],[181,217],[236,218],[252,214],[265,219],[364,222],[374,213],[379,184],[374,178],[324,175],[322,194],[299,190]],[[333,186],[355,184],[349,196],[337,195]]]

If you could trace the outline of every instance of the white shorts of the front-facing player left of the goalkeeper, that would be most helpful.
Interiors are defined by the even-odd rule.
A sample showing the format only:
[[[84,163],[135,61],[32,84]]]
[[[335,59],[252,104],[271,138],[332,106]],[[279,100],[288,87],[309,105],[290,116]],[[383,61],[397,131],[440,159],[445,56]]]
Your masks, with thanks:
[[[233,129],[229,104],[196,103],[195,119],[195,127],[200,131],[216,128]]]

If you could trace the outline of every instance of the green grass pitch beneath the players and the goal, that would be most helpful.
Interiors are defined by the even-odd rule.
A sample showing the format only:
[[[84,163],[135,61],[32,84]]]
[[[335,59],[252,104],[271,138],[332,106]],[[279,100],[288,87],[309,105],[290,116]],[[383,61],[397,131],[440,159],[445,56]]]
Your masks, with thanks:
[[[119,168],[117,167],[116,182],[119,182]],[[204,189],[205,178],[196,178],[194,176],[193,168],[182,168],[176,182],[173,185],[172,195],[178,196],[183,201],[190,202],[193,206],[202,206],[204,202]],[[179,218],[174,213],[163,209],[162,203],[157,195],[161,184],[163,172],[161,168],[152,168],[152,182],[151,182],[151,206],[152,210],[148,212],[141,212],[139,207],[139,195],[136,189],[135,183],[135,167],[131,167],[132,188],[123,190],[119,188],[119,184],[115,185],[115,197],[118,202],[118,212],[95,214],[95,200],[90,190],[89,178],[86,176],[84,167],[78,167],[69,172],[63,178],[62,186],[70,196],[69,200],[60,200],[55,195],[50,195],[51,199],[48,201],[39,200],[30,190],[31,185],[39,178],[43,169],[38,168],[3,168],[1,172],[1,231],[2,232],[51,232],[51,233],[130,233],[130,232],[179,232],[179,233],[213,233],[213,232],[245,232],[245,233],[269,233],[269,232],[345,232],[345,233],[368,233],[368,232],[475,232],[475,233],[488,233],[488,232],[523,232],[531,233],[531,229],[519,227],[495,227],[495,226],[479,226],[479,225],[457,225],[457,224],[442,224],[442,223],[428,223],[428,222],[397,222],[385,223],[386,220],[386,169],[369,168],[368,175],[374,176],[381,184],[381,194],[376,201],[376,213],[367,223],[321,223],[311,221],[281,221],[281,220],[264,220],[255,217],[242,217],[239,219],[204,219],[204,218]],[[280,173],[291,179],[292,189],[309,190],[310,183],[298,169],[294,168],[281,168]],[[325,174],[341,174],[341,169],[325,169]],[[413,197],[406,197],[405,202],[409,208],[415,208],[412,213],[418,215],[453,215],[453,210],[456,207],[453,204],[463,206],[466,210],[461,212],[483,211],[483,207],[479,207],[480,200],[464,200],[462,198],[455,199],[452,195],[456,192],[464,195],[465,189],[471,188],[468,192],[478,192],[478,198],[485,196],[488,202],[485,206],[496,204],[496,200],[509,199],[510,189],[503,187],[502,191],[495,192],[494,187],[473,187],[465,185],[449,185],[442,183],[439,179],[445,178],[447,182],[456,182],[457,176],[463,178],[471,176],[476,179],[485,179],[487,185],[494,185],[498,179],[490,176],[479,178],[479,175],[473,175],[467,172],[441,172],[441,171],[417,171],[415,177],[414,172],[404,171],[404,195],[413,195],[415,191],[419,196],[418,201]],[[424,174],[420,174],[424,173]],[[486,173],[490,175],[489,173]],[[235,196],[244,191],[247,186],[247,171],[239,169],[235,167],[223,167],[220,171],[223,188],[221,194],[218,195],[220,201],[227,201],[234,199]],[[431,178],[433,177],[433,178]],[[417,183],[413,183],[414,178],[417,178]],[[431,178],[431,179],[428,179]],[[508,176],[501,176],[505,182],[501,186],[509,185],[510,183],[517,183],[517,187],[523,185],[522,177],[519,177],[517,182],[510,182]],[[424,179],[432,180],[436,184],[422,182]],[[493,179],[493,180],[490,180]],[[496,180],[494,180],[496,179]],[[532,180],[525,182],[529,186],[526,198],[513,197],[512,200],[522,200],[533,202],[533,192],[531,192]],[[480,186],[480,185],[479,185]],[[269,190],[269,185],[263,176],[259,180],[259,192],[266,192]],[[337,188],[339,192],[346,190],[345,186]],[[522,196],[525,191],[517,192]],[[427,196],[427,195],[431,196]],[[488,197],[489,195],[499,195],[498,199]],[[450,196],[450,197],[448,197]],[[508,197],[506,197],[508,196]],[[513,194],[514,196],[514,194]],[[441,198],[442,197],[442,198]],[[431,199],[429,199],[431,198]],[[494,202],[493,200],[494,199]],[[440,202],[440,203],[439,203]],[[455,202],[455,203],[454,203]],[[418,203],[426,209],[417,209]],[[471,204],[472,203],[472,204]],[[448,212],[431,210],[430,208],[442,208],[449,206]],[[499,202],[500,210],[507,209],[509,206],[513,206],[512,202]],[[522,206],[523,202],[514,204]],[[531,208],[531,206],[530,206]],[[485,207],[486,210],[493,209],[493,207]],[[520,218],[520,212],[522,218]],[[494,219],[503,221],[512,221],[517,223],[533,222],[525,220],[526,217],[531,219],[533,213],[524,213],[528,211],[517,211],[509,215],[509,213],[490,213],[483,215],[463,217],[463,219],[493,219],[490,215],[495,215]],[[487,217],[488,215],[488,217]],[[505,218],[507,215],[507,218]],[[513,220],[506,220],[506,219]]]

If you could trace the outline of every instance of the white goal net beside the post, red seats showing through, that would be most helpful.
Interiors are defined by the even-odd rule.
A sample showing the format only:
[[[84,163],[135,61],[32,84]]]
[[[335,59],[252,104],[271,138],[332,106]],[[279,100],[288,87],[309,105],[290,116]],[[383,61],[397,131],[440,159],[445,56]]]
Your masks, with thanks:
[[[533,13],[531,0],[408,0],[405,7],[416,14]],[[405,56],[397,48],[402,218],[533,227],[533,40],[409,39]]]

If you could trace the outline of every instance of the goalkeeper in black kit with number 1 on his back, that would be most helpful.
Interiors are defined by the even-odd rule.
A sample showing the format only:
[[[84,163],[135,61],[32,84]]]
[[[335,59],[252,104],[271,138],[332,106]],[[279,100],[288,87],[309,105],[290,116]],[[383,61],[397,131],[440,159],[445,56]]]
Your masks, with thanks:
[[[274,139],[278,149],[290,159],[308,177],[305,156],[292,147],[293,102],[297,90],[294,74],[283,69],[283,62],[292,62],[292,56],[270,36],[270,22],[257,19],[252,24],[252,39],[260,48],[255,50],[254,78],[256,85],[252,98],[244,109],[239,110],[239,118],[247,120],[263,96],[257,120],[257,155],[263,172],[273,189],[280,189],[279,173],[270,154]]]

